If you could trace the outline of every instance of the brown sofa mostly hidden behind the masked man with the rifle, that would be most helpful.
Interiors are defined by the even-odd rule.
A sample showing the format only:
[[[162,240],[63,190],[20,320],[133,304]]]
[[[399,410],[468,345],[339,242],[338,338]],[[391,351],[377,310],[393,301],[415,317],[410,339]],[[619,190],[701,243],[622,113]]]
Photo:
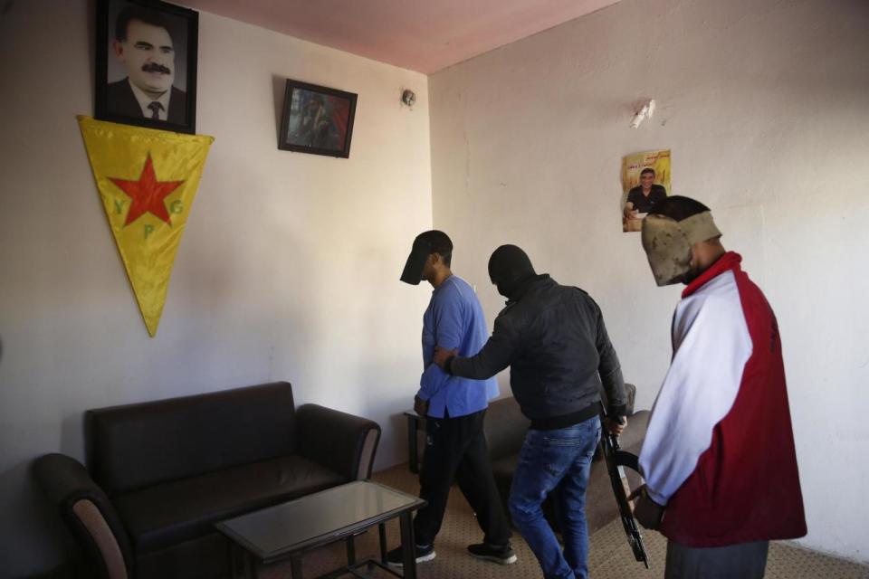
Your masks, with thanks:
[[[625,387],[628,394],[628,423],[625,432],[619,437],[619,444],[622,450],[639,454],[649,422],[649,411],[643,410],[634,413],[636,387],[634,384],[625,384]],[[519,451],[522,441],[525,440],[525,432],[528,430],[529,424],[530,421],[522,415],[519,404],[512,397],[501,398],[489,403],[483,428],[486,432],[486,442],[489,445],[489,456],[492,458],[495,482],[501,493],[504,512],[507,513],[508,517],[510,516],[510,509],[507,508],[507,500],[510,498],[513,471],[516,470]],[[639,478],[632,474],[632,471],[629,471],[628,480],[633,489],[637,486]],[[549,522],[557,528],[549,500],[544,503],[543,510]],[[599,448],[591,465],[591,474],[588,477],[586,517],[589,533],[604,527],[618,517],[616,498],[613,496],[609,475],[606,473],[606,464],[600,456]]]

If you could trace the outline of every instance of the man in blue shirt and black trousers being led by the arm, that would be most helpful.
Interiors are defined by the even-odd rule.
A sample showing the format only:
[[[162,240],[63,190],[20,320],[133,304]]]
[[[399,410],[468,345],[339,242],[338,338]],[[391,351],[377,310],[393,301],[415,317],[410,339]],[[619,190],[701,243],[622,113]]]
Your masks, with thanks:
[[[435,536],[444,519],[454,481],[477,514],[483,542],[468,546],[471,555],[509,565],[516,561],[486,446],[482,421],[498,382],[448,375],[433,364],[435,346],[458,348],[460,356],[475,355],[488,338],[480,301],[465,280],[453,275],[453,242],[446,233],[416,236],[401,280],[417,285],[428,281],[435,290],[423,316],[423,364],[414,409],[425,416],[426,446],[419,475],[419,496],[427,501],[414,519],[416,562],[435,558]],[[387,555],[401,565],[402,549]]]

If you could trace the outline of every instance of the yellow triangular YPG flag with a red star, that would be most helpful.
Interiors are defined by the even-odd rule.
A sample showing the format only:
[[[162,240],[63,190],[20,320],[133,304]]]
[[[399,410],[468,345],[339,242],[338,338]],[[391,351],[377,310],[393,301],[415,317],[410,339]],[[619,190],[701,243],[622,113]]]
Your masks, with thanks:
[[[79,126],[120,259],[154,337],[178,243],[215,138],[83,116]]]

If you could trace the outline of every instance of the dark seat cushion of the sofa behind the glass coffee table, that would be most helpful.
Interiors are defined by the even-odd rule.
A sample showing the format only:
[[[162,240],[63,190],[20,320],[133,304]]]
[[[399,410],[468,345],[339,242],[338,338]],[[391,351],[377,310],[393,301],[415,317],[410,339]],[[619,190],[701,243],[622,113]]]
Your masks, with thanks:
[[[301,456],[166,482],[115,498],[138,554],[212,532],[217,521],[337,486],[347,479]]]

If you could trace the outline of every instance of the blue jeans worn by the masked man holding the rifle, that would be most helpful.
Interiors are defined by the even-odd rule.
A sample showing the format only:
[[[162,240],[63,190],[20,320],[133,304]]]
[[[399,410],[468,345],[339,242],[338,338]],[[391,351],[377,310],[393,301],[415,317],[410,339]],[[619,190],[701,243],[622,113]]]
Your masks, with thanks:
[[[510,513],[546,579],[588,576],[586,487],[599,440],[597,416],[568,428],[530,430],[525,435],[513,474]],[[543,517],[541,506],[549,493],[555,499],[564,553]]]

